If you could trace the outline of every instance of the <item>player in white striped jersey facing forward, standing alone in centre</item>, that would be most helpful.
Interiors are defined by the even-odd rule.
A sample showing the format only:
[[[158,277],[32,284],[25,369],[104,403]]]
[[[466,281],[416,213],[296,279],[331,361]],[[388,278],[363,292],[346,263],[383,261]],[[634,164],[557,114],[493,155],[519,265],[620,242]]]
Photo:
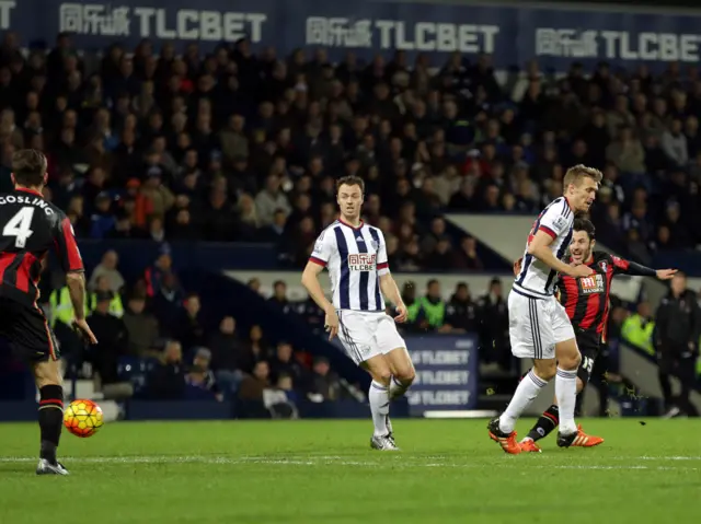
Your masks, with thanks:
[[[395,326],[406,321],[406,306],[390,273],[384,236],[360,220],[364,193],[363,178],[345,176],[336,182],[341,217],[319,235],[302,284],[326,315],[329,339],[337,335],[347,356],[372,377],[370,445],[395,451],[390,400],[406,392],[415,372]],[[331,302],[319,283],[324,267],[331,277]],[[384,296],[394,304],[394,318],[384,313]]]

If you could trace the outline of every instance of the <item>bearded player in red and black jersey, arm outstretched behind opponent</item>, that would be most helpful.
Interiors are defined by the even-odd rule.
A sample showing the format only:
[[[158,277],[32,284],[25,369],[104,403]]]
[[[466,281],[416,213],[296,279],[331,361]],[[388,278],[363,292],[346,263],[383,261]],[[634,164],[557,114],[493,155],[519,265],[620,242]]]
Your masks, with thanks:
[[[570,263],[587,265],[594,273],[589,277],[573,278],[561,275],[558,280],[559,300],[565,307],[574,327],[577,346],[582,353],[582,363],[577,370],[577,393],[589,382],[591,369],[598,357],[601,343],[605,343],[605,329],[609,316],[609,294],[616,275],[657,277],[670,280],[676,269],[651,269],[634,261],[624,260],[609,253],[596,252],[594,224],[586,219],[575,219],[572,242],[570,243]],[[518,263],[517,263],[518,264]],[[547,436],[558,427],[559,410],[553,404],[538,419],[528,436],[520,442],[526,452],[540,452],[536,441]],[[600,436],[587,435],[582,428],[573,446],[591,447],[604,442]]]

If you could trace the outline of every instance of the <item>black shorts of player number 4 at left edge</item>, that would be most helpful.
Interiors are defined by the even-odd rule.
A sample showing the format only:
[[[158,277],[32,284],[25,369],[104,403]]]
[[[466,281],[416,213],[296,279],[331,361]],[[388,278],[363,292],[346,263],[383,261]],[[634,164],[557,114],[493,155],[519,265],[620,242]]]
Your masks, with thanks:
[[[58,343],[42,310],[0,296],[0,336],[21,359],[30,362],[58,360]]]

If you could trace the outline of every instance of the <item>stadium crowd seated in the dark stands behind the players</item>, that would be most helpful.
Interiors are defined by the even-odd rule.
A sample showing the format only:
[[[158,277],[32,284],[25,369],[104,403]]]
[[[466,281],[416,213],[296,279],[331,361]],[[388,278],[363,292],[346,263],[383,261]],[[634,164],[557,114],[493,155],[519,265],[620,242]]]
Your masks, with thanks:
[[[8,184],[14,151],[39,149],[49,161],[46,198],[80,237],[163,244],[137,282],[119,277],[114,253],[91,277],[104,343],[116,351],[128,337],[130,354],[165,354],[154,395],[184,394],[171,391],[175,374],[215,396],[260,393],[272,381],[332,397],[327,362],[302,353],[302,373],[289,345],[268,348],[255,326],[239,336],[231,317],[214,336],[203,333],[199,299],[180,288],[166,241],[274,243],[286,264],[302,267],[335,219],[334,179],[360,174],[365,220],[386,232],[392,268],[482,270],[479,243],[452,234],[439,213],[536,213],[562,194],[566,167],[585,163],[605,174],[591,217],[599,238],[648,264],[655,251],[701,241],[700,112],[698,68],[676,63],[653,75],[644,66],[585,71],[575,62],[555,78],[533,61],[499,77],[486,55],[453,54],[445,63],[418,55],[410,63],[397,51],[361,63],[349,53],[334,65],[324,49],[254,53],[241,39],[208,55],[197,44],[154,49],[143,40],[97,57],[74,49],[68,34],[24,53],[5,32],[0,181]],[[61,286],[46,284],[44,300],[70,350]],[[415,325],[430,327],[432,291],[412,294],[405,290],[407,304],[418,304]],[[507,343],[503,318],[479,313],[498,307],[496,295],[474,305],[457,289],[453,299],[463,316],[434,328],[472,329],[490,318],[485,336]],[[318,312],[308,317],[320,322]],[[496,360],[507,361],[502,352]],[[118,380],[114,361],[94,360],[103,381]],[[214,387],[211,369],[230,373]]]

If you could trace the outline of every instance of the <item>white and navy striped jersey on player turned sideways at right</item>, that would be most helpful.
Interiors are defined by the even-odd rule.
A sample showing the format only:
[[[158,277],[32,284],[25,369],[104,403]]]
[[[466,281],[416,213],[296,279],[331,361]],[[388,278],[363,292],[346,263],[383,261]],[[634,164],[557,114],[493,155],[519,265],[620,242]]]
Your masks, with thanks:
[[[555,258],[562,260],[572,241],[572,225],[574,212],[565,197],[560,197],[548,205],[533,222],[526,243],[526,254],[521,263],[521,271],[516,276],[514,290],[517,293],[542,299],[555,293],[558,271],[540,261],[533,255],[528,254],[528,245],[538,231],[543,231],[552,236],[550,249]]]

